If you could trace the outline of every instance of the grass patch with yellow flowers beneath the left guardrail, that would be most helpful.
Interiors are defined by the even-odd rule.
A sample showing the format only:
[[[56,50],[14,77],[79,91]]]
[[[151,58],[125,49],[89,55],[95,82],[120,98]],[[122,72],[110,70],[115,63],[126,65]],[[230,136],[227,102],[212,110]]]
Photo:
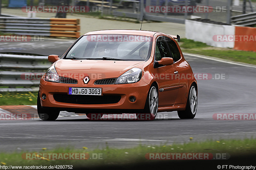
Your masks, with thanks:
[[[37,92],[1,92],[0,106],[36,105]]]

